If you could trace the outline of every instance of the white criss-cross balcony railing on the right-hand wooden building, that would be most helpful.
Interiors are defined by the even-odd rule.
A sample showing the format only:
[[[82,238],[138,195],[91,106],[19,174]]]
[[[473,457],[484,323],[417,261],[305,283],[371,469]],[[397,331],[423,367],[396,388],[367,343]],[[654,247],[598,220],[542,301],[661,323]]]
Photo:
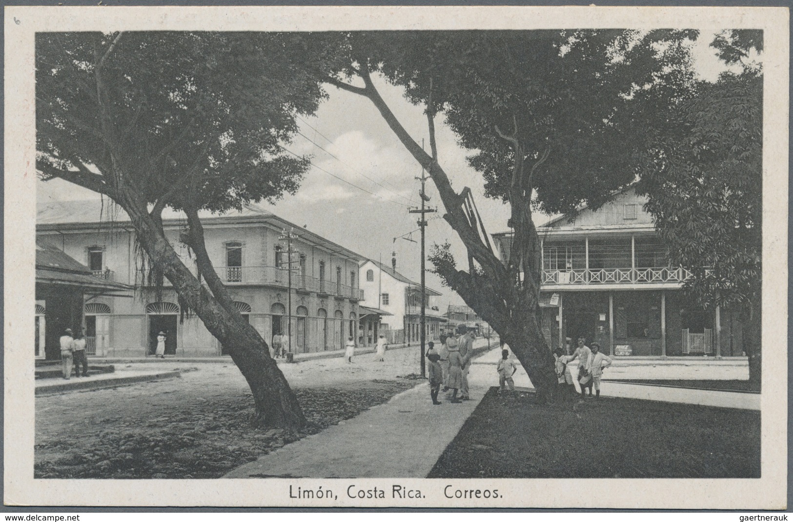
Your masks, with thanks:
[[[685,282],[691,272],[685,268],[588,268],[570,271],[542,271],[543,285],[613,285],[657,282]]]

